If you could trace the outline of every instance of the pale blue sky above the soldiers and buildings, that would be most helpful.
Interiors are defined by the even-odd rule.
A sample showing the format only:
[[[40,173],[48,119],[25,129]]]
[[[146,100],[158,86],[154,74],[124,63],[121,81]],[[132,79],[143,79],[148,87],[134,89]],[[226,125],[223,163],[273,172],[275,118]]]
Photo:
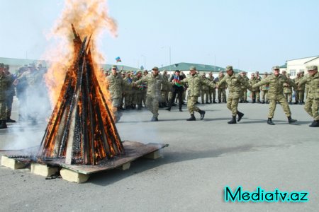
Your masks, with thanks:
[[[319,1],[108,0],[118,37],[99,46],[108,64],[190,62],[269,71],[288,59],[319,55]],[[39,59],[62,0],[1,0],[0,57]],[[171,57],[169,57],[169,49]]]

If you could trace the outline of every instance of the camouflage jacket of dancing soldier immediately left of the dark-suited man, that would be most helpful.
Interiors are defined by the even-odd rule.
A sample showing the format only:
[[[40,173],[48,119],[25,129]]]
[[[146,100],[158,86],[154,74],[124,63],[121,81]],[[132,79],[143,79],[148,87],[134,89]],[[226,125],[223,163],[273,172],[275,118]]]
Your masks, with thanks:
[[[149,98],[160,98],[161,97],[161,87],[164,85],[172,85],[169,81],[164,80],[163,76],[158,74],[154,76],[153,73],[143,76],[140,80],[135,82],[137,85],[142,83],[147,83],[147,93],[146,96]]]

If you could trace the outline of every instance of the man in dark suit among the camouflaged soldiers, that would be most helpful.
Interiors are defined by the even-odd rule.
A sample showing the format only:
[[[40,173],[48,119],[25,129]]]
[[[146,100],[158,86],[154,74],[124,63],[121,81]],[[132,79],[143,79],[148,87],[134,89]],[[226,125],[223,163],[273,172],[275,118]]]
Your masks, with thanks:
[[[172,77],[170,78],[170,82],[172,82],[174,80],[175,84],[172,88],[172,98],[169,100],[169,107],[166,109],[168,111],[171,111],[171,107],[174,103],[174,100],[176,98],[176,95],[178,94],[178,98],[179,98],[179,111],[183,112],[183,110],[181,110],[181,105],[183,104],[183,100],[182,100],[182,95],[184,92],[184,87],[181,85],[181,83],[179,83],[179,81],[181,81],[182,79],[184,79],[185,77],[180,75],[181,71],[176,70],[175,73],[172,75]]]

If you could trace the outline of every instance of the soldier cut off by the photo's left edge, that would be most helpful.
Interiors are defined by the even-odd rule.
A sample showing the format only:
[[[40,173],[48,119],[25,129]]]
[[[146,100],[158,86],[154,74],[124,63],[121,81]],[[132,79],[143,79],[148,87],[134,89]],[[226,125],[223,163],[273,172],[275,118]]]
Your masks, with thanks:
[[[4,73],[4,64],[0,64],[0,129],[6,129],[6,91],[9,89],[10,78]]]

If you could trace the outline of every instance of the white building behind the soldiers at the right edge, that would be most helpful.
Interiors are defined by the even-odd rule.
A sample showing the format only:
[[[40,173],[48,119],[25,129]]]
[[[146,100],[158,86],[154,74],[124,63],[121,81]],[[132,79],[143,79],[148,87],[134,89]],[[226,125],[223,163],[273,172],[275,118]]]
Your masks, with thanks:
[[[306,71],[306,66],[318,66],[319,56],[304,57],[300,59],[287,60],[287,73],[291,74],[291,78],[295,78],[300,71]]]

